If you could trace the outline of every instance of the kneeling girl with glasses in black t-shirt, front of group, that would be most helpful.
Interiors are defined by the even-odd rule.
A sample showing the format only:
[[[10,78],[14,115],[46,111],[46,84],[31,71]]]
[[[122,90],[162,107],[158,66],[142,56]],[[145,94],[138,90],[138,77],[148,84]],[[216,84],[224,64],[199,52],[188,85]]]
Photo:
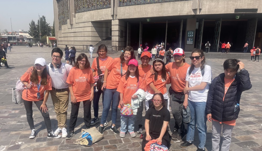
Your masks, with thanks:
[[[167,125],[170,121],[170,112],[165,108],[166,102],[162,93],[155,93],[152,97],[153,107],[148,109],[145,115],[145,134],[142,141],[142,151],[146,143],[156,139],[156,143],[162,143],[170,147],[171,136]]]

